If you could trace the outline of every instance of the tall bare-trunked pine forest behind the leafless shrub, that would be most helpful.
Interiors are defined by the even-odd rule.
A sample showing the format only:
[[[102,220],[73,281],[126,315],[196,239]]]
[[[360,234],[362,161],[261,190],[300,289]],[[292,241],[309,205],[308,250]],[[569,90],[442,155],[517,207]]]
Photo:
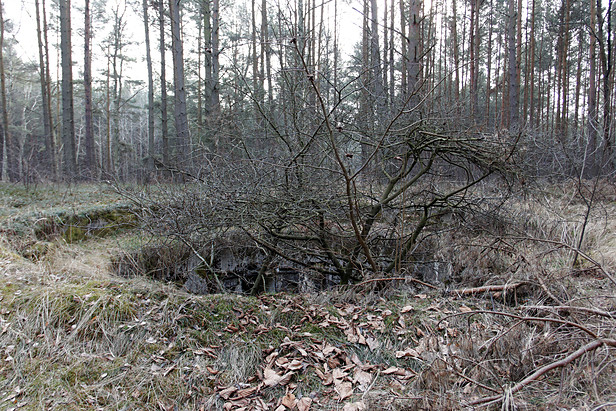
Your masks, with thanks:
[[[23,7],[36,32],[19,35],[36,36],[36,64],[17,54],[0,9],[4,180],[185,178],[223,158],[281,155],[290,166],[318,160],[328,127],[349,170],[391,176],[404,157],[396,141],[427,120],[435,133],[518,141],[534,174],[614,169],[612,0]],[[353,38],[341,23],[351,15],[361,26]],[[145,42],[134,56],[126,33],[137,21]],[[93,56],[105,67],[93,70]],[[128,77],[129,66],[143,66],[144,79]]]

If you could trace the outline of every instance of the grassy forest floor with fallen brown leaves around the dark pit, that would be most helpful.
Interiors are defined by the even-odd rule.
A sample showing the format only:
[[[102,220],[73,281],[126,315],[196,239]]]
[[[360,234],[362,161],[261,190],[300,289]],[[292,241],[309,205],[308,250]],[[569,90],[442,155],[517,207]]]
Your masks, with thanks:
[[[246,297],[114,275],[146,240],[112,190],[1,185],[0,409],[616,409],[613,192],[581,253],[584,191],[516,200],[490,282]]]

